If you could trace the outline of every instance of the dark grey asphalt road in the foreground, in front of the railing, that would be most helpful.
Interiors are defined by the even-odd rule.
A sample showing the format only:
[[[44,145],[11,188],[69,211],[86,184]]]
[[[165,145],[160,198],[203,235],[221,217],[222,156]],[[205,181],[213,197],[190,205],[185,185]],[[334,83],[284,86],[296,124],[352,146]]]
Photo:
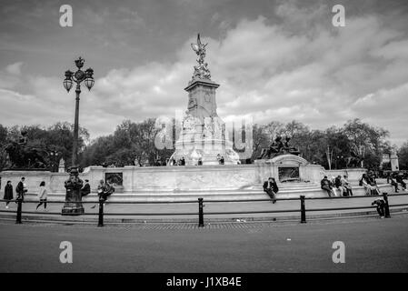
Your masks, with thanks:
[[[406,215],[152,226],[2,223],[0,272],[408,272]],[[73,264],[59,262],[62,241],[73,244]],[[344,264],[333,264],[334,241],[345,244]]]

